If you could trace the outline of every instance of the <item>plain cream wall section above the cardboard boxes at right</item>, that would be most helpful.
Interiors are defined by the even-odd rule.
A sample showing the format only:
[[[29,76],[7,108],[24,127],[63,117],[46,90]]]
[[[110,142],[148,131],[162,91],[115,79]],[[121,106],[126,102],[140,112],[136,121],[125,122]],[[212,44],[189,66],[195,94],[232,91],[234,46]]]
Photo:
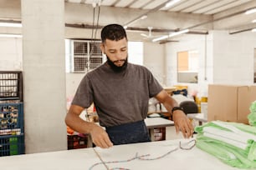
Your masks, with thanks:
[[[213,83],[253,84],[253,61],[256,37],[253,32],[213,35]]]

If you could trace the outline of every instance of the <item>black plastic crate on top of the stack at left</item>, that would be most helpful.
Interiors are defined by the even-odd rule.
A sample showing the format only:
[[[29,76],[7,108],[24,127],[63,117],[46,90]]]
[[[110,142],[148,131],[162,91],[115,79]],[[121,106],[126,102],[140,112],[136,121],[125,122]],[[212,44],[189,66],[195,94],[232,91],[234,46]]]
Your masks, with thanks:
[[[23,101],[22,72],[0,71],[0,100]]]

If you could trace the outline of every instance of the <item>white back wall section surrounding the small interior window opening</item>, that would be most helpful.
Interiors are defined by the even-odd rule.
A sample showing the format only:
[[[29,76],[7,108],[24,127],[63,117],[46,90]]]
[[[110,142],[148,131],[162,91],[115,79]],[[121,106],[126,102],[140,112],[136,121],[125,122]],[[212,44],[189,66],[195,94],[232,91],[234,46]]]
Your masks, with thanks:
[[[182,35],[180,37],[174,37],[172,40],[177,42],[168,42],[166,46],[166,85],[184,85],[188,86],[188,91],[197,91],[201,95],[207,93],[207,84],[212,80],[212,75],[209,67],[209,58],[211,57],[208,50],[208,44],[211,43],[211,39],[208,35]],[[183,83],[177,82],[177,52],[184,51],[198,51],[199,56],[199,70],[198,70],[198,83]]]

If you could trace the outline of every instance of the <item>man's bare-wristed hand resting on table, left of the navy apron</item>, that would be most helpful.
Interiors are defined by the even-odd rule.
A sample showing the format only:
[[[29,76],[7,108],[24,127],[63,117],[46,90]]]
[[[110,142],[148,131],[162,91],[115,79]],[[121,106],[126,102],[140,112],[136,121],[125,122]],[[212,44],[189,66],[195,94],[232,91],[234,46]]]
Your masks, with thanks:
[[[108,133],[98,125],[95,126],[90,131],[90,136],[92,138],[92,142],[95,143],[97,147],[100,148],[110,148],[113,146],[111,143]]]

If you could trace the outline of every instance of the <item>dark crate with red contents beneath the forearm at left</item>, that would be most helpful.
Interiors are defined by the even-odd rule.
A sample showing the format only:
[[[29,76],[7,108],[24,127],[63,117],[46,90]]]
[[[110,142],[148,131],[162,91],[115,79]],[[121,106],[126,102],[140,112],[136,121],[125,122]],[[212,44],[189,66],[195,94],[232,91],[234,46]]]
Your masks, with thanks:
[[[88,135],[68,135],[68,149],[87,148]]]

